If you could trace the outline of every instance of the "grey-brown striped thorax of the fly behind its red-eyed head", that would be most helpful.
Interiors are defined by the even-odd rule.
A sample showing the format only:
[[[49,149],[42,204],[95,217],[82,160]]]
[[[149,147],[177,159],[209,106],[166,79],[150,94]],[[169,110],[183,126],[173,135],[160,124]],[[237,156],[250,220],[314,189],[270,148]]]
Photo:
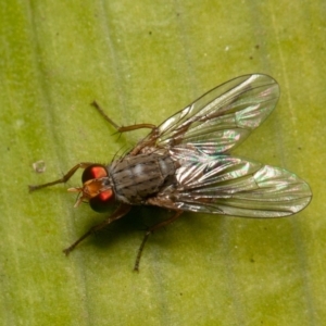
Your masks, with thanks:
[[[118,201],[140,204],[156,193],[175,175],[175,165],[168,155],[140,154],[126,156],[109,167]]]

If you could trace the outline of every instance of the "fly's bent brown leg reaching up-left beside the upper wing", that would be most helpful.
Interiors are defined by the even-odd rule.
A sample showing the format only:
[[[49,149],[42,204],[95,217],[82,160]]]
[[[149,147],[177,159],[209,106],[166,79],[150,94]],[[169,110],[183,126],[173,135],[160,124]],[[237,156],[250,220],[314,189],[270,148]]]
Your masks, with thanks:
[[[129,154],[131,155],[137,155],[141,151],[141,149],[143,149],[147,146],[153,146],[156,139],[159,138],[158,127],[153,124],[136,124],[131,126],[118,126],[111,117],[109,117],[105,114],[103,109],[96,101],[93,101],[91,105],[95,106],[97,111],[104,117],[104,120],[108,121],[118,133],[127,133],[137,129],[143,129],[143,128],[151,129],[151,133],[130,151]]]

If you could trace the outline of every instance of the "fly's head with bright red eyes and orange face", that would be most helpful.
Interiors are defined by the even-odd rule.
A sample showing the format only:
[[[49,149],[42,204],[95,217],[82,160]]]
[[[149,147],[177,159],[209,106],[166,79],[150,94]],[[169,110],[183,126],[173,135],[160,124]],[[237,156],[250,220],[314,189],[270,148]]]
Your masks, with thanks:
[[[114,192],[104,165],[91,164],[82,175],[83,187],[70,188],[71,192],[79,192],[75,208],[80,202],[88,202],[90,208],[99,213],[110,210],[114,201]]]

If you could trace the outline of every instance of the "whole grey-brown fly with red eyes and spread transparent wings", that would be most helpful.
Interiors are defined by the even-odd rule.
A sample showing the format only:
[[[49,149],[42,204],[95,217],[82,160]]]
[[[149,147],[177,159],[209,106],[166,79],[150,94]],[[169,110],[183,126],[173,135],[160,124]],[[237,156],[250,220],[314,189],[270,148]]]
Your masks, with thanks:
[[[279,98],[278,84],[269,76],[252,74],[213,88],[161,125],[120,127],[103,110],[95,108],[120,133],[151,129],[130,151],[111,164],[82,162],[62,178],[29,186],[29,190],[66,183],[84,168],[75,206],[88,202],[97,212],[115,211],[90,228],[68,254],[91,234],[126,215],[133,205],[173,211],[166,221],[150,227],[139,247],[134,269],[149,235],[183,212],[243,217],[283,217],[303,210],[312,198],[309,185],[279,167],[230,155],[269,115]]]

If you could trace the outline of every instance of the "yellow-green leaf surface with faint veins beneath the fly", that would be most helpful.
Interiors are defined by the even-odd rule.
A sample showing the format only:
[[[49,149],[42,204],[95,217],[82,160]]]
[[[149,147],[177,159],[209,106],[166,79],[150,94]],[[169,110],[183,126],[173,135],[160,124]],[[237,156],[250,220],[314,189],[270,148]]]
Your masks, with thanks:
[[[1,325],[322,325],[325,313],[325,5],[322,1],[2,1]],[[68,185],[28,193],[78,162],[110,163],[153,123],[248,73],[275,77],[274,114],[238,150],[308,180],[311,205],[258,221],[73,208]],[[38,174],[33,163],[45,161]]]

